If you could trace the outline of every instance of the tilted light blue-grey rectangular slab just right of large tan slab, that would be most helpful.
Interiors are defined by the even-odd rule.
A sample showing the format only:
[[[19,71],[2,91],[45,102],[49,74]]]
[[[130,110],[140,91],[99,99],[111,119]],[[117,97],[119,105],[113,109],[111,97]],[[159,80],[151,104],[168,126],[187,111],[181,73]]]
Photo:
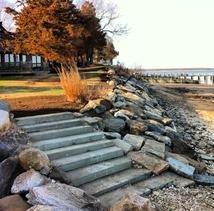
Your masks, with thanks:
[[[169,163],[170,168],[176,172],[178,175],[184,176],[186,178],[192,179],[195,173],[195,168],[185,164],[179,160],[174,158],[167,158],[167,162]]]

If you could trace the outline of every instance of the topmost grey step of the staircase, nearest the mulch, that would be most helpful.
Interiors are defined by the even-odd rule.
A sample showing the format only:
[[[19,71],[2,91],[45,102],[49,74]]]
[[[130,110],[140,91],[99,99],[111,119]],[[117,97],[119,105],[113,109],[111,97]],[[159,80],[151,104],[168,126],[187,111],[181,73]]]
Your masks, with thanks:
[[[21,125],[34,125],[39,123],[46,122],[55,122],[66,119],[73,119],[74,116],[71,112],[62,112],[55,114],[44,114],[44,115],[36,115],[36,116],[28,116],[28,117],[20,117],[16,118],[17,124]]]

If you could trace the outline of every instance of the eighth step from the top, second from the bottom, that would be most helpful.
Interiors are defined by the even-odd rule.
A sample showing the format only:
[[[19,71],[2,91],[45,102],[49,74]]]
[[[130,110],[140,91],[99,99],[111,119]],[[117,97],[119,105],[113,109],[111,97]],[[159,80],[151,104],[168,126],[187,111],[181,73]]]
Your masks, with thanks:
[[[131,185],[146,180],[151,174],[151,171],[147,169],[128,169],[118,174],[87,183],[80,186],[80,188],[98,197],[125,185]]]

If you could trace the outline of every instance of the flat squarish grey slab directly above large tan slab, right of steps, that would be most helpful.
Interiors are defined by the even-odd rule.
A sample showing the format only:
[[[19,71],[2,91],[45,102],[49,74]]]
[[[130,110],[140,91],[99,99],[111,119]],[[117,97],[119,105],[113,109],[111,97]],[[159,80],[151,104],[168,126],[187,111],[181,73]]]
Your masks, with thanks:
[[[165,159],[166,146],[164,143],[160,143],[152,139],[147,139],[141,150]]]

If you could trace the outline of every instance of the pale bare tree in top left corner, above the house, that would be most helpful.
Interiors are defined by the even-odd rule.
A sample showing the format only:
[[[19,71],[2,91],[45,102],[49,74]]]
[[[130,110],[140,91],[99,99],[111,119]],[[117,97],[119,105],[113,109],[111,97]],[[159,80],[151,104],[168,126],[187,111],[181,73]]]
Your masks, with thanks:
[[[14,31],[15,25],[14,25],[13,17],[5,11],[6,7],[14,8],[15,5],[10,3],[8,0],[0,1],[0,22],[2,22],[3,26],[8,31]]]

